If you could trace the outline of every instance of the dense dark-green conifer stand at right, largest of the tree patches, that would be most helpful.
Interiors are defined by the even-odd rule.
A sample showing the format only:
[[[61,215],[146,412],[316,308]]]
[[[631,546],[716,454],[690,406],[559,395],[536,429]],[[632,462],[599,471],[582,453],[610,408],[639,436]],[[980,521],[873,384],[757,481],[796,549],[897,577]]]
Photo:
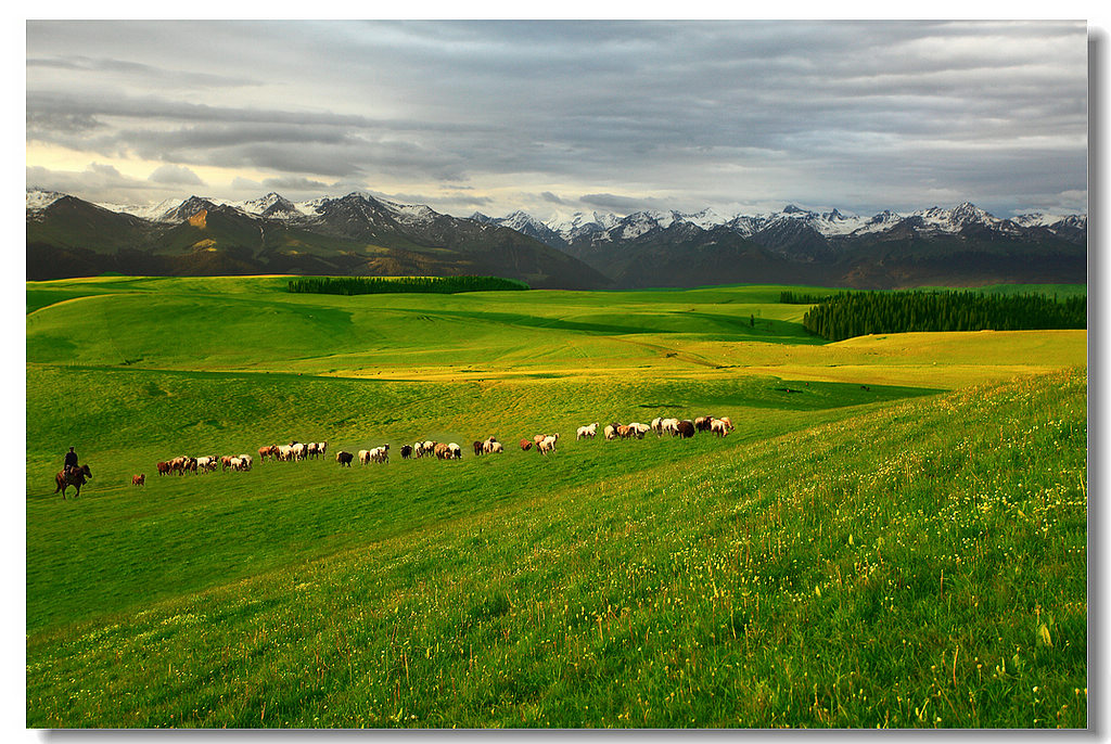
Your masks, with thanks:
[[[970,291],[841,292],[807,311],[802,325],[829,341],[870,333],[1088,328],[1085,295],[989,295]]]

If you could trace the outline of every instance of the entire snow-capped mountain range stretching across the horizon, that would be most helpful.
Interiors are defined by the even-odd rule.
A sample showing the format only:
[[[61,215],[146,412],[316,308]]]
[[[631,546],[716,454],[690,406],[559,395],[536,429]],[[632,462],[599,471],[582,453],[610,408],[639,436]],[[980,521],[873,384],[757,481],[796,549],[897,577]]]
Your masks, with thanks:
[[[971,203],[871,217],[641,211],[441,214],[364,193],[93,204],[28,189],[28,279],[146,274],[496,274],[536,288],[792,283],[885,289],[1087,281],[1085,215]]]

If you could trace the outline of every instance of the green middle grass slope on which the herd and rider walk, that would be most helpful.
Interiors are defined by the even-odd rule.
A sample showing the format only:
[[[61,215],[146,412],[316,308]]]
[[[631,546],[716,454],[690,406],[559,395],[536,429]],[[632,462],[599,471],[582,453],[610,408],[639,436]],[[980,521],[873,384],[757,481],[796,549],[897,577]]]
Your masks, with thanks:
[[[802,385],[799,385],[802,388]],[[80,391],[71,398],[58,391]],[[28,380],[28,626],[70,622],[192,591],[291,561],[419,530],[556,486],[727,452],[882,405],[917,389],[815,383],[799,393],[767,378],[526,383],[402,383],[298,375],[42,369]],[[80,409],[73,400],[80,398]],[[574,441],[590,421],[731,415],[725,440],[653,436]],[[517,446],[561,432],[558,458]],[[470,444],[497,435],[498,458]],[[162,476],[178,454],[250,453],[273,442],[328,441],[331,452],[391,443],[386,466],[257,463],[248,473]],[[401,444],[459,442],[461,462],[404,462]],[[93,481],[78,504],[53,494],[58,451],[78,445]],[[53,446],[51,446],[53,445]],[[130,484],[144,472],[148,486]],[[72,493],[72,492],[71,492]]]

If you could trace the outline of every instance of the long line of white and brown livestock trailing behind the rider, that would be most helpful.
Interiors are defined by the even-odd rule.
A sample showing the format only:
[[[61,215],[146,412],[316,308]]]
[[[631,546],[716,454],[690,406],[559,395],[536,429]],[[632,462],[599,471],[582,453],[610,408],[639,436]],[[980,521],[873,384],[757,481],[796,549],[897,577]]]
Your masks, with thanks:
[[[595,421],[592,424],[579,426],[578,432],[575,433],[575,440],[593,439],[598,434],[598,425],[599,424]],[[695,432],[701,431],[708,431],[717,434],[718,436],[727,436],[729,432],[733,431],[733,422],[729,419],[729,416],[722,416],[721,419],[715,419],[713,416],[699,416],[694,420],[657,418],[652,420],[651,424],[642,424],[639,422],[632,422],[629,424],[611,423],[602,429],[602,435],[607,441],[612,441],[619,439],[644,439],[644,435],[649,432],[655,432],[657,436],[670,434],[671,436],[688,439],[693,436]],[[547,455],[556,451],[557,442],[559,442],[558,433],[537,434],[531,440],[522,439],[519,442],[519,446],[524,452],[528,452],[536,446],[538,452]],[[471,446],[474,450],[476,455],[499,454],[506,451],[504,445],[499,442],[496,436],[490,436],[482,441],[476,441]],[[289,444],[270,444],[259,448],[259,461],[266,462],[268,459],[278,462],[294,462],[310,459],[314,460],[323,458],[327,452],[328,442],[290,442]],[[438,460],[461,460],[463,451],[462,448],[454,442],[443,443],[422,441],[414,442],[413,444],[403,444],[401,446],[402,460],[428,456],[436,456]],[[390,445],[383,444],[372,450],[359,450],[358,453],[347,452],[343,450],[336,453],[336,462],[338,462],[341,466],[350,467],[351,463],[356,459],[358,459],[359,463],[362,465],[372,462],[389,462]],[[208,455],[201,458],[183,455],[164,462],[159,462],[158,474],[170,475],[172,473],[177,473],[178,475],[183,475],[184,473],[210,473],[216,471],[217,467],[221,469],[221,471],[247,471],[251,469],[253,462],[254,459],[249,454],[223,456]],[[144,482],[146,475],[142,473],[134,475],[131,479],[131,483],[133,485],[143,485]]]

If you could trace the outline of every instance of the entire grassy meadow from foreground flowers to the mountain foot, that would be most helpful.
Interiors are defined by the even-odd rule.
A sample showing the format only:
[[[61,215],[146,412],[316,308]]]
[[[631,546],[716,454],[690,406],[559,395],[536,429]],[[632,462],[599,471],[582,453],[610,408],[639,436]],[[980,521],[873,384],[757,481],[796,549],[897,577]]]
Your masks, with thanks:
[[[287,282],[27,283],[28,726],[1087,725],[1085,331]],[[291,440],[328,454],[258,462]]]

